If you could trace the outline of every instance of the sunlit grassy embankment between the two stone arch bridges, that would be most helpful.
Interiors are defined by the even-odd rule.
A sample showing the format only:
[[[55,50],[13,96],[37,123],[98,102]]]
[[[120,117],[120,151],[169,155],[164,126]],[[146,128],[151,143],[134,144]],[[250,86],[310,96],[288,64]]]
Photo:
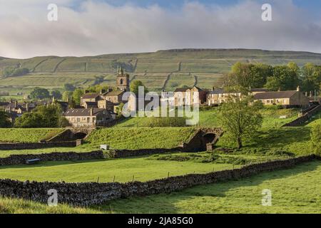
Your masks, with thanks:
[[[95,130],[83,147],[108,144],[115,149],[172,148],[184,142],[194,128],[102,128]]]

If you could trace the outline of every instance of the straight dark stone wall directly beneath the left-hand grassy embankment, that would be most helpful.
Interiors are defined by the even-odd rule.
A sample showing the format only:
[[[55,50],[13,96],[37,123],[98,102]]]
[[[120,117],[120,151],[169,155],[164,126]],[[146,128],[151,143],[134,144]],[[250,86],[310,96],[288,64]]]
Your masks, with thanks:
[[[0,143],[0,150],[31,150],[51,147],[76,147],[76,141],[69,142],[14,142]]]

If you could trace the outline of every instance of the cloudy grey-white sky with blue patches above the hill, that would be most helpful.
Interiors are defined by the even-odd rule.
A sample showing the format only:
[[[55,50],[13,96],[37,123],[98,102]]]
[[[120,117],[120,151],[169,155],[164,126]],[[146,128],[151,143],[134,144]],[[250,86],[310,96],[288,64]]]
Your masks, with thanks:
[[[263,4],[272,21],[263,21]],[[58,6],[49,21],[49,4]],[[172,48],[321,53],[320,0],[0,0],[0,56],[96,56]]]

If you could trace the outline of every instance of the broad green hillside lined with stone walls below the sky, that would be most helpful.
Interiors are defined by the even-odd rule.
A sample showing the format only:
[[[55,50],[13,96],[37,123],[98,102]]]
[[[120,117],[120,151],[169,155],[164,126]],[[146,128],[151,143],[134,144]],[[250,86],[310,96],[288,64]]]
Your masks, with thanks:
[[[26,76],[0,78],[1,90],[11,95],[29,93],[35,86],[62,89],[64,83],[86,87],[103,76],[103,83],[115,84],[117,66],[123,66],[131,79],[139,79],[153,90],[173,90],[181,86],[211,88],[222,83],[223,73],[236,62],[280,65],[293,61],[321,64],[320,53],[263,51],[249,49],[177,49],[153,53],[120,53],[101,56],[41,56],[28,59],[0,57],[0,71],[8,66],[29,68]]]

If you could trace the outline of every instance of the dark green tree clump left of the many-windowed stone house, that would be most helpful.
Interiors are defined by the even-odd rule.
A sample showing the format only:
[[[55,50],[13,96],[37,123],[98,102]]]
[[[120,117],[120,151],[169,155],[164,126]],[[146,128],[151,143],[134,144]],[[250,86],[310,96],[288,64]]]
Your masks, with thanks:
[[[59,105],[40,105],[31,113],[24,113],[16,118],[15,128],[60,128],[68,125],[68,120],[61,116]]]

